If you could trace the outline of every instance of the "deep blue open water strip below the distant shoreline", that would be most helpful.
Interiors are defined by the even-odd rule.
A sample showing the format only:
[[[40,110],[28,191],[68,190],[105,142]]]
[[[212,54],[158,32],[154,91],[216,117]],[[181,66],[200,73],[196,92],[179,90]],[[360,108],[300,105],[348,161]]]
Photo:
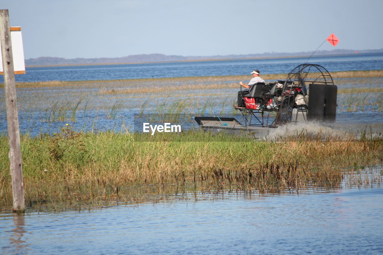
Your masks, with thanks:
[[[121,65],[80,65],[64,67],[27,67],[26,74],[15,75],[16,82],[119,80],[152,77],[189,77],[217,75],[249,75],[258,69],[262,74],[287,74],[308,57],[276,59],[214,60]],[[330,73],[350,70],[383,69],[383,53],[341,56],[313,56],[309,64],[319,64]],[[3,77],[0,77],[3,82]]]

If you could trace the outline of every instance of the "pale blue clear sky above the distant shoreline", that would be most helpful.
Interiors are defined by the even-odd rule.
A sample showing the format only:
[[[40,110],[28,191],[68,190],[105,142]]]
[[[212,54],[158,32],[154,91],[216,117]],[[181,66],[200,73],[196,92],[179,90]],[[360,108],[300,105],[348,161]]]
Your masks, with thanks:
[[[383,0],[0,0],[25,58],[383,48]],[[336,49],[324,43],[319,50]]]

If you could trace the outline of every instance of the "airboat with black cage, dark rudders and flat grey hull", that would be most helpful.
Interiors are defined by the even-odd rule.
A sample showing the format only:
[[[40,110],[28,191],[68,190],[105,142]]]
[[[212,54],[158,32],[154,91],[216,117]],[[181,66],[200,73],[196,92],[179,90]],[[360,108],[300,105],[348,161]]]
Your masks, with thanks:
[[[301,64],[285,80],[255,83],[243,100],[246,107],[235,107],[241,122],[230,116],[196,116],[195,121],[206,131],[250,132],[259,137],[289,123],[333,123],[337,86],[321,65]]]

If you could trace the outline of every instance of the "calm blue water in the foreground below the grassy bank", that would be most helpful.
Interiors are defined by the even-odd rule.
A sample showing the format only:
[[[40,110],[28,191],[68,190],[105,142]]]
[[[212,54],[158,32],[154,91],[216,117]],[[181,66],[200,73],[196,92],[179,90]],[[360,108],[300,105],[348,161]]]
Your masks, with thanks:
[[[3,254],[381,254],[382,212],[380,185],[342,183],[280,195],[199,192],[92,211],[5,214],[0,249]]]

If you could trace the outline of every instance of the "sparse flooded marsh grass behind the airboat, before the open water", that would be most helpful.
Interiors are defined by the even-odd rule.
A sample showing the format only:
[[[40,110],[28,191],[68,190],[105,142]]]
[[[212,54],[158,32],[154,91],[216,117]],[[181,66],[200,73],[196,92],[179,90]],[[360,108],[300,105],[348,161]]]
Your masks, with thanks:
[[[334,72],[332,76],[338,85],[338,112],[382,111],[383,70]],[[285,79],[286,74],[262,77],[273,82]],[[177,104],[184,104],[180,102],[185,99],[191,102],[183,108],[186,113],[233,113],[240,80],[247,81],[249,76],[18,83],[25,88],[17,92],[18,107],[24,122],[74,122],[79,113],[83,121],[85,116],[114,119],[116,112],[166,113]],[[369,93],[367,97],[365,93]],[[0,102],[3,101],[4,96],[0,95]],[[144,102],[147,103],[143,105]],[[5,115],[5,111],[0,114]]]

